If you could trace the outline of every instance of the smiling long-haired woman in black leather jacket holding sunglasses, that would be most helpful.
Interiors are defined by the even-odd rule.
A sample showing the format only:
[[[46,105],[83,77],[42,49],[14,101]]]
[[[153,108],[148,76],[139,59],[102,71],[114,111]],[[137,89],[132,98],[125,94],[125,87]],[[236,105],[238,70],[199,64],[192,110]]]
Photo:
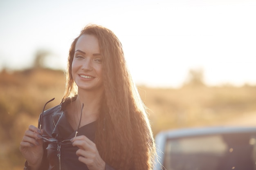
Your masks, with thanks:
[[[25,169],[153,169],[155,143],[146,108],[116,35],[85,26],[70,47],[66,80],[61,104],[43,111],[38,128],[25,132],[20,143]]]

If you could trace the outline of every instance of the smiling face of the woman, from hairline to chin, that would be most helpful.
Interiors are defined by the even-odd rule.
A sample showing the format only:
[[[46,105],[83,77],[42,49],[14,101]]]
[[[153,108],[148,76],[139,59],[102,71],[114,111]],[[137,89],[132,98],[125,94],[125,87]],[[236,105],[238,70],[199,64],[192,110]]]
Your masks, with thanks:
[[[72,77],[80,89],[103,90],[102,56],[95,36],[84,34],[77,40],[72,62]]]

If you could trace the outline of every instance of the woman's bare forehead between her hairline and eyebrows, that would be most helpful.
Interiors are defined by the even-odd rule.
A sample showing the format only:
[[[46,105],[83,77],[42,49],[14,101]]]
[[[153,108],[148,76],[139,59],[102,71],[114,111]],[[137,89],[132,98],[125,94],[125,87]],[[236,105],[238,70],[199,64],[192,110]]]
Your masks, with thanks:
[[[99,40],[94,35],[83,34],[76,42],[75,50],[94,50],[99,52]]]

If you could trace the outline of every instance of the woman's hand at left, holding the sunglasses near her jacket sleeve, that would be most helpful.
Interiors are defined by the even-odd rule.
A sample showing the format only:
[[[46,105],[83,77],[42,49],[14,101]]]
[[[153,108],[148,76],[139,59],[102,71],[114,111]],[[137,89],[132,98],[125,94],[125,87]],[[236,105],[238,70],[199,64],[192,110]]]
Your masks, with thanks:
[[[38,169],[43,159],[42,131],[33,125],[25,131],[20,142],[20,152],[28,162],[31,169]]]

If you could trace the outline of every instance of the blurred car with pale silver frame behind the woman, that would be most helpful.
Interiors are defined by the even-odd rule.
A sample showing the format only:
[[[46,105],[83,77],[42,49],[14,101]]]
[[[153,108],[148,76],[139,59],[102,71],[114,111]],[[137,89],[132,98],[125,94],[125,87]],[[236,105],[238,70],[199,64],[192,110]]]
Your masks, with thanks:
[[[168,130],[155,140],[155,170],[256,170],[256,127]]]

